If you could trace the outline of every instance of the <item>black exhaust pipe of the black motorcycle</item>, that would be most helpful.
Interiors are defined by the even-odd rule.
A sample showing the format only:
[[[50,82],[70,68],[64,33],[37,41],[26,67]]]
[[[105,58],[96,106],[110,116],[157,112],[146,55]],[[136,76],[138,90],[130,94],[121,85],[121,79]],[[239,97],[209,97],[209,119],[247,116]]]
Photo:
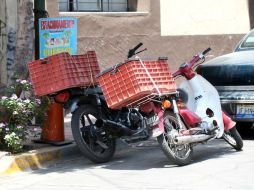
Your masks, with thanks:
[[[105,130],[117,133],[119,136],[131,136],[140,131],[140,130],[131,130],[125,125],[122,125],[121,123],[116,123],[114,121],[104,119],[98,119],[95,125],[98,128],[103,127]]]

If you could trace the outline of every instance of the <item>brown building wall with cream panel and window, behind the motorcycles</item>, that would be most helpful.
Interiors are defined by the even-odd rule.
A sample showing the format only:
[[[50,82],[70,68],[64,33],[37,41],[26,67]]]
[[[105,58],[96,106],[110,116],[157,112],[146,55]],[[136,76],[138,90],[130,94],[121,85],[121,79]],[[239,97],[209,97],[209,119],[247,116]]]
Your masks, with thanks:
[[[47,0],[46,9],[52,17],[78,17],[78,53],[95,49],[102,68],[123,61],[143,42],[148,50],[142,56],[167,56],[174,69],[207,47],[212,56],[231,52],[251,28],[248,0],[106,0],[112,4],[106,10],[100,1],[84,2],[73,0],[70,10],[69,0]],[[108,12],[117,11],[117,2],[121,12]]]

